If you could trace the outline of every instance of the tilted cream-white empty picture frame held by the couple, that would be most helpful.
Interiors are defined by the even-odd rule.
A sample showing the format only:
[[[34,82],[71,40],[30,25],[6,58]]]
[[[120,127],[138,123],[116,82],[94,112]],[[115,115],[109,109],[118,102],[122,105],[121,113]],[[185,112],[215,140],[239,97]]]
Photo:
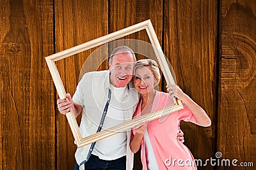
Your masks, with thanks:
[[[134,32],[142,31],[144,29],[147,31],[148,38],[150,39],[150,42],[154,48],[154,52],[156,53],[156,57],[159,62],[159,67],[161,68],[161,71],[164,74],[166,83],[167,84],[170,84],[170,83],[175,84],[175,81],[173,80],[172,74],[170,72],[170,68],[168,67],[168,64],[167,64],[166,59],[163,54],[163,51],[161,50],[161,46],[157,39],[156,32],[154,31],[153,25],[150,20],[145,20],[144,22],[140,22],[139,24],[135,24],[130,27],[126,27],[125,29],[121,29],[120,31],[113,32],[106,36],[102,36],[100,38],[93,39],[92,41],[88,41],[81,45],[77,45],[77,46],[74,46],[67,50],[63,50],[61,52],[54,53],[52,55],[49,55],[48,57],[45,57],[47,66],[49,67],[49,71],[51,72],[52,80],[54,81],[54,85],[56,87],[58,95],[60,96],[60,99],[65,99],[66,91],[65,91],[65,88],[64,88],[63,83],[60,78],[60,74],[59,74],[58,69],[55,64],[56,61],[65,59],[71,55],[75,55],[77,53],[83,52],[85,50],[89,50],[89,49],[99,46],[99,45],[103,45],[103,44],[113,41],[115,39],[122,38],[122,37],[132,34]],[[135,127],[136,125],[141,124],[145,121],[154,120],[156,118],[159,118],[164,115],[168,115],[170,113],[179,111],[184,108],[182,105],[182,102],[179,101],[179,99],[173,98],[173,101],[174,101],[174,104],[172,106],[168,106],[161,110],[155,111],[154,113],[148,113],[141,117],[134,118],[134,119],[132,119],[128,122],[125,122],[123,124],[116,125],[115,127],[112,127],[111,129],[106,129],[106,130],[97,132],[91,136],[87,136],[86,138],[82,138],[81,132],[79,131],[79,127],[77,125],[76,117],[74,117],[74,113],[72,112],[72,110],[66,114],[66,117],[68,120],[68,124],[70,125],[72,134],[74,136],[75,143],[76,143],[77,147],[81,147],[81,146],[93,143],[95,141],[99,141],[100,139],[107,138],[108,136],[116,134],[117,132],[127,131],[129,129],[131,130],[132,127]]]

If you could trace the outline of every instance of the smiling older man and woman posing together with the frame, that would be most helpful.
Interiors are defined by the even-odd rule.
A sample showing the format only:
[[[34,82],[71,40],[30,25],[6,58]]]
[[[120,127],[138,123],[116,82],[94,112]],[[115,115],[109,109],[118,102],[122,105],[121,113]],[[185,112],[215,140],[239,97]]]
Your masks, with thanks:
[[[83,111],[79,127],[83,138],[102,128],[108,129],[129,121],[132,115],[138,117],[172,104],[173,96],[183,101],[185,107],[164,118],[163,122],[159,118],[141,125],[132,133],[119,132],[92,145],[77,148],[75,169],[132,169],[133,153],[140,146],[143,169],[179,168],[164,164],[170,156],[177,160],[193,159],[188,148],[177,138],[179,122],[185,120],[208,126],[211,120],[176,85],[167,86],[169,94],[154,90],[159,80],[159,69],[154,60],[136,62],[131,48],[119,46],[109,57],[108,71],[84,74],[73,98],[67,94],[69,101],[58,99],[58,110],[62,114],[73,110],[77,117]],[[182,140],[183,137],[180,138]]]

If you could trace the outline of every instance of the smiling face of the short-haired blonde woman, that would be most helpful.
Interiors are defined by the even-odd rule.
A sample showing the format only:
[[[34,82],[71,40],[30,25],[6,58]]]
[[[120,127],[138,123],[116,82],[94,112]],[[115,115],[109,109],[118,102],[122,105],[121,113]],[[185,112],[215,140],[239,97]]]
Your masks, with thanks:
[[[148,92],[154,92],[154,83],[156,78],[152,74],[149,67],[141,66],[137,67],[134,72],[133,83],[140,94],[148,94]]]

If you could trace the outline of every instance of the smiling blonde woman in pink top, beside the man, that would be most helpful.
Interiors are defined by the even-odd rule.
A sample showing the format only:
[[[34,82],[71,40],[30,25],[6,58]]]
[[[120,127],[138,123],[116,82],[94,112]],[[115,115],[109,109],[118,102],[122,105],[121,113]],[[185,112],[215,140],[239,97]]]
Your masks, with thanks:
[[[141,146],[143,169],[196,169],[193,155],[177,139],[180,120],[204,127],[211,125],[211,120],[205,111],[177,85],[167,86],[169,94],[155,90],[154,87],[159,83],[160,77],[156,61],[143,59],[136,62],[133,82],[141,97],[134,117],[173,104],[172,97],[180,99],[184,109],[135,129],[132,132],[130,148],[136,153]]]

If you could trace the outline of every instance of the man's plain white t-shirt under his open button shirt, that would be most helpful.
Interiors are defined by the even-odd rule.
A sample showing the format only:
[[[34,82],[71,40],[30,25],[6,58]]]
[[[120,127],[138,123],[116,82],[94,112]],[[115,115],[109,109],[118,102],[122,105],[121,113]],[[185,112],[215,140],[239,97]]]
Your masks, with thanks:
[[[116,88],[113,85],[110,85],[110,87],[111,98],[102,131],[125,122],[122,101],[127,87]],[[102,160],[115,160],[126,155],[126,145],[126,132],[119,132],[97,141],[92,154]]]

